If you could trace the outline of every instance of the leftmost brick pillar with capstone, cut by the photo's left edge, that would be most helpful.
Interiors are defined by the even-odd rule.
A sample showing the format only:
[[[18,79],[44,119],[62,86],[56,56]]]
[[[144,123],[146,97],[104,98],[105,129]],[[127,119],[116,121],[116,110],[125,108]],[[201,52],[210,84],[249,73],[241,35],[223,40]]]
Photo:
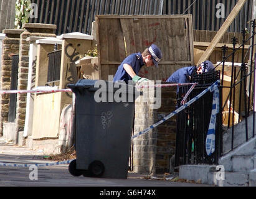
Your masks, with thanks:
[[[19,53],[19,37],[24,30],[7,29],[2,32],[6,35],[2,40],[2,54],[1,54],[1,90],[11,89],[11,69],[12,60],[11,55]],[[3,134],[3,123],[8,121],[9,113],[9,97],[10,95],[0,95],[0,135]]]

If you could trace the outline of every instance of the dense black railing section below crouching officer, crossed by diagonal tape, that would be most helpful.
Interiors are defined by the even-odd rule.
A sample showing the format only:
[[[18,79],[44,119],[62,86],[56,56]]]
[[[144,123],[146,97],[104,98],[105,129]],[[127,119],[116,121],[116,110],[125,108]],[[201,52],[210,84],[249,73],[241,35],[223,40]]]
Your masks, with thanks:
[[[219,80],[219,77],[219,71],[192,75],[192,82],[199,84],[192,90],[187,101],[206,90],[212,83]],[[179,88],[178,106],[181,106],[181,100],[188,89],[189,86]],[[222,142],[220,125],[220,113],[222,110],[217,114],[215,152],[211,155],[206,153],[206,136],[212,114],[212,98],[213,94],[208,91],[195,103],[178,114],[176,127],[176,167],[183,164],[216,164],[219,159],[220,151],[222,150],[220,144]]]

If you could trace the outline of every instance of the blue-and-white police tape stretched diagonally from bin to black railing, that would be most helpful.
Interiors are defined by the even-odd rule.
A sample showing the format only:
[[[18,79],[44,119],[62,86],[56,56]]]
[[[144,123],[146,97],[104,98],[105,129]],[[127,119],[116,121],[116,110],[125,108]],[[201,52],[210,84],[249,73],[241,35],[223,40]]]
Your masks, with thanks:
[[[195,101],[197,101],[197,99],[201,98],[203,95],[205,95],[208,91],[212,91],[214,89],[214,87],[217,88],[218,84],[220,83],[220,80],[217,80],[215,83],[213,83],[211,86],[209,86],[208,88],[206,88],[206,90],[202,91],[202,93],[200,93],[199,95],[197,95],[196,97],[192,98],[190,101],[188,101],[186,104],[184,104],[183,106],[179,107],[178,109],[176,109],[175,111],[173,111],[172,113],[168,114],[168,116],[166,116],[165,118],[163,118],[161,121],[159,121],[156,124],[153,124],[151,126],[149,126],[148,128],[146,128],[143,131],[138,132],[138,134],[131,136],[131,139],[135,139],[135,137],[139,137],[142,134],[145,134],[146,132],[149,132],[151,129],[154,129],[154,127],[164,123],[164,121],[170,119],[171,117],[173,117],[174,115],[176,115],[177,113],[181,112],[183,109],[187,108],[187,106],[190,106],[192,103],[194,103]]]

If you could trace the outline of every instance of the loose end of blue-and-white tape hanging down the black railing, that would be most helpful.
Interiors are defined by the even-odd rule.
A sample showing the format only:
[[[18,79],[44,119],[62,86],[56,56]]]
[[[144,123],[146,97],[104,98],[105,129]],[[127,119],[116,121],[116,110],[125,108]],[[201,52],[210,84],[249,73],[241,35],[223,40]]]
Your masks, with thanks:
[[[219,89],[217,88],[217,86],[215,86],[210,91],[214,91],[214,94],[212,98],[211,120],[206,136],[206,153],[209,156],[212,155],[212,153],[215,151],[215,127],[217,113],[219,113]]]

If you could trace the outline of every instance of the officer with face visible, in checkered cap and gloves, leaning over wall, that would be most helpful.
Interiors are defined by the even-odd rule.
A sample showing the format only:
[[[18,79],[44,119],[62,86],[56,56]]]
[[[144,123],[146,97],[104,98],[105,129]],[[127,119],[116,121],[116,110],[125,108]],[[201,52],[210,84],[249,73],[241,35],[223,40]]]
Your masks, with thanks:
[[[126,84],[128,84],[129,80],[133,80],[135,83],[148,81],[148,79],[138,76],[141,67],[143,67],[143,65],[146,65],[146,67],[153,65],[158,67],[158,62],[161,58],[162,52],[155,44],[145,49],[143,53],[133,53],[126,57],[118,67],[113,81],[125,81]]]

